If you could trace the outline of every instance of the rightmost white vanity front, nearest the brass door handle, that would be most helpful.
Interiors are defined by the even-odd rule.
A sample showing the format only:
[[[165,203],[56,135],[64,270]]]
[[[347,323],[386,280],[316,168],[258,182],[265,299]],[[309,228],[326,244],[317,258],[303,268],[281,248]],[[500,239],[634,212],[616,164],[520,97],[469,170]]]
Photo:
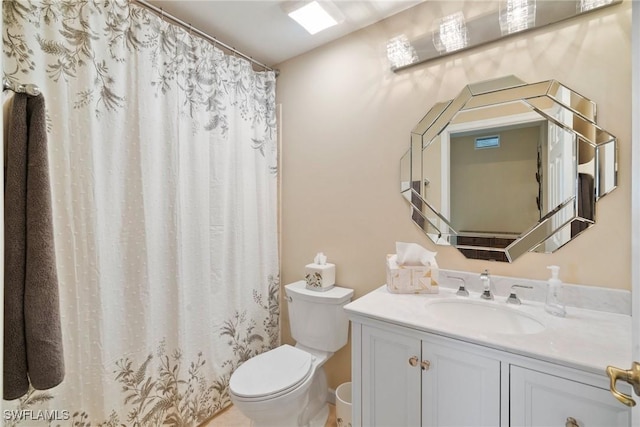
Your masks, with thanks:
[[[605,390],[511,365],[512,426],[628,427],[630,411]]]

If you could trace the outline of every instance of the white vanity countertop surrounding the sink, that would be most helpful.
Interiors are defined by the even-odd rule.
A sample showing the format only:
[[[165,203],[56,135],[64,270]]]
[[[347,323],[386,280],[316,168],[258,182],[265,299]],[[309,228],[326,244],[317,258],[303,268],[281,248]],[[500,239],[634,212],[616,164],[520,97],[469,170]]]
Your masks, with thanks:
[[[509,335],[483,331],[481,318],[472,324],[445,322],[428,313],[429,302],[442,298],[521,311],[535,317],[545,329],[535,334]],[[625,314],[567,307],[567,316],[560,318],[547,314],[539,302],[523,300],[522,305],[508,305],[504,297],[484,301],[474,292],[459,297],[455,289],[444,287],[438,294],[393,294],[386,285],[347,304],[345,310],[352,320],[359,316],[382,320],[596,374],[603,374],[608,365],[631,366],[631,316]]]

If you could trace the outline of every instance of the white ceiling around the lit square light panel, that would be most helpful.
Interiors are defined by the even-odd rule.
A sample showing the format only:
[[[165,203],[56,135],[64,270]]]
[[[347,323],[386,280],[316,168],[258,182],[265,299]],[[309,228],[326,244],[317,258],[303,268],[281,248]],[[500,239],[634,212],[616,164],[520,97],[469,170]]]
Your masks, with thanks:
[[[274,66],[423,1],[333,0],[331,3],[344,20],[315,35],[307,33],[287,16],[286,10],[300,1],[150,0],[148,3],[258,62]]]

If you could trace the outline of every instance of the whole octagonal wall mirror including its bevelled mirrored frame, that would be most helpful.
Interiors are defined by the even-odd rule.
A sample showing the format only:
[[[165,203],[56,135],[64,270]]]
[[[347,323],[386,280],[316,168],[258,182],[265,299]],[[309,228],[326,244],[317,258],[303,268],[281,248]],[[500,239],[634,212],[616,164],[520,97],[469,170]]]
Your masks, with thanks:
[[[471,84],[411,132],[401,193],[431,240],[467,258],[554,252],[595,224],[617,185],[616,138],[555,80]]]

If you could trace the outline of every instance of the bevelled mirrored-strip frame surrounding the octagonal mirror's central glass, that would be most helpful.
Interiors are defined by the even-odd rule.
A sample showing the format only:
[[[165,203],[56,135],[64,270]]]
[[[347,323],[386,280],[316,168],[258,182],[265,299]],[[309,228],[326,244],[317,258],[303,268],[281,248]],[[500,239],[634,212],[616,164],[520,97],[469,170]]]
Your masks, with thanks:
[[[570,138],[563,144],[571,150],[572,163],[565,167],[569,169],[565,174],[573,190],[568,190],[557,205],[540,210],[539,221],[512,239],[456,230],[449,216],[439,212],[437,203],[427,197],[433,171],[423,164],[425,150],[447,135],[447,128],[460,121],[461,115],[500,111],[510,105],[527,111],[519,116],[534,115]],[[512,124],[515,120],[499,118]],[[595,103],[555,80],[527,84],[507,76],[464,87],[455,99],[434,105],[411,132],[411,147],[401,160],[401,193],[411,205],[412,220],[434,243],[454,246],[467,258],[512,262],[529,251],[556,251],[595,224],[596,202],[617,186],[617,139],[595,120]],[[581,159],[588,161],[579,165]],[[450,181],[446,176],[449,172],[436,173],[442,174],[439,181]],[[593,188],[585,191],[579,187],[579,175],[591,175]],[[450,191],[447,185],[444,187],[442,191]]]

